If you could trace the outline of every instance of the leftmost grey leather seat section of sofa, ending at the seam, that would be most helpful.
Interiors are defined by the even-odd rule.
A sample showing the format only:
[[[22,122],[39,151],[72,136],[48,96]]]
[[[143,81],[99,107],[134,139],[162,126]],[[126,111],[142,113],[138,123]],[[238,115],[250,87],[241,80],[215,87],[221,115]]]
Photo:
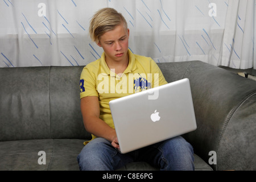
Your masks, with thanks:
[[[0,170],[47,170],[48,165],[38,164],[39,151],[46,152],[46,164],[49,164],[53,152],[53,140],[34,139],[0,142]]]

